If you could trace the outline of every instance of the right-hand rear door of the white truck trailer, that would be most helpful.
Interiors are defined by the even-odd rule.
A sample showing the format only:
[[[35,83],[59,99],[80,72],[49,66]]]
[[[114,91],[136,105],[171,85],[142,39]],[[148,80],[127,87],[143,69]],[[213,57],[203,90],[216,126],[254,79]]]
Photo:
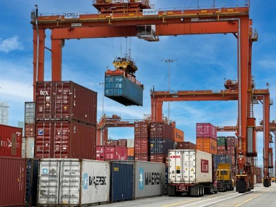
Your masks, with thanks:
[[[197,168],[195,167],[195,150],[185,150],[184,154],[182,155],[184,161],[183,161],[183,166],[184,166],[184,181],[188,182],[195,182],[196,181],[196,170]]]

